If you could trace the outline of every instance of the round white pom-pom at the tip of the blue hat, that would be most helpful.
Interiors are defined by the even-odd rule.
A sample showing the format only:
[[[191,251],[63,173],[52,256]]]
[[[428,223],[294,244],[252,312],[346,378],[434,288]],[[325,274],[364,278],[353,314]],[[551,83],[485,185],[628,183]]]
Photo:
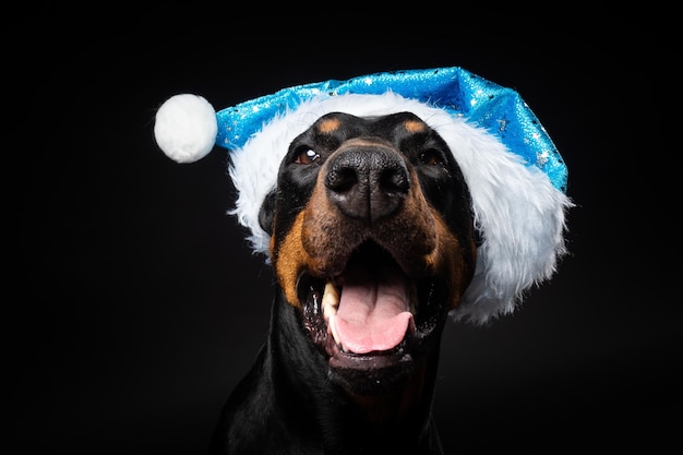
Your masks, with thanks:
[[[217,132],[216,111],[199,95],[175,95],[156,112],[156,143],[178,163],[193,163],[205,157],[214,147]]]

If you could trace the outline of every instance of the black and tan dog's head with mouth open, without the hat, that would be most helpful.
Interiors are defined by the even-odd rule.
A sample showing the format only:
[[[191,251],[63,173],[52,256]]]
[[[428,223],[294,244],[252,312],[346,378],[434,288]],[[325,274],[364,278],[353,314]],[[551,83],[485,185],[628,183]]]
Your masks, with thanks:
[[[414,113],[331,112],[291,142],[260,223],[287,302],[345,385],[368,390],[359,371],[405,371],[436,343],[474,275],[470,207],[448,145]]]

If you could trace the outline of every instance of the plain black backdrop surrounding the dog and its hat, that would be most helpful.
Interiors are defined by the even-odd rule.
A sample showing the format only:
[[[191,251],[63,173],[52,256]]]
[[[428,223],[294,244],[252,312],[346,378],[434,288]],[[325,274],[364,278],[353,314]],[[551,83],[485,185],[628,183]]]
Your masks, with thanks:
[[[680,234],[649,180],[672,153],[650,115],[669,45],[647,14],[232,8],[47,2],[8,20],[13,453],[205,453],[265,339],[272,276],[226,215],[226,152],[165,157],[152,133],[160,103],[194,93],[221,109],[290,85],[450,65],[520,93],[577,206],[552,282],[490,327],[446,327],[434,410],[447,453],[675,441],[681,309],[658,255]]]

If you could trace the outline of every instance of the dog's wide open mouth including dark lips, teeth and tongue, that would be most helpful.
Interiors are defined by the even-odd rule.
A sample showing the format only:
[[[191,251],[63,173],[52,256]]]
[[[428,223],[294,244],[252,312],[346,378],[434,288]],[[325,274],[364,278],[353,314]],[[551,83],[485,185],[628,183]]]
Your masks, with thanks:
[[[368,240],[332,277],[299,277],[303,325],[333,369],[367,374],[411,362],[445,318],[445,286],[412,278]]]

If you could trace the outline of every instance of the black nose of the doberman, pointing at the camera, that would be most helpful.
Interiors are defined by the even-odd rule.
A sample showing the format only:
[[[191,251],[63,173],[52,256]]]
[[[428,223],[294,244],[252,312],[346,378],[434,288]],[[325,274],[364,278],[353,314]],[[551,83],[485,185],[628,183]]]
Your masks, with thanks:
[[[410,178],[398,153],[384,146],[351,147],[331,157],[325,187],[342,213],[373,224],[400,207]]]

